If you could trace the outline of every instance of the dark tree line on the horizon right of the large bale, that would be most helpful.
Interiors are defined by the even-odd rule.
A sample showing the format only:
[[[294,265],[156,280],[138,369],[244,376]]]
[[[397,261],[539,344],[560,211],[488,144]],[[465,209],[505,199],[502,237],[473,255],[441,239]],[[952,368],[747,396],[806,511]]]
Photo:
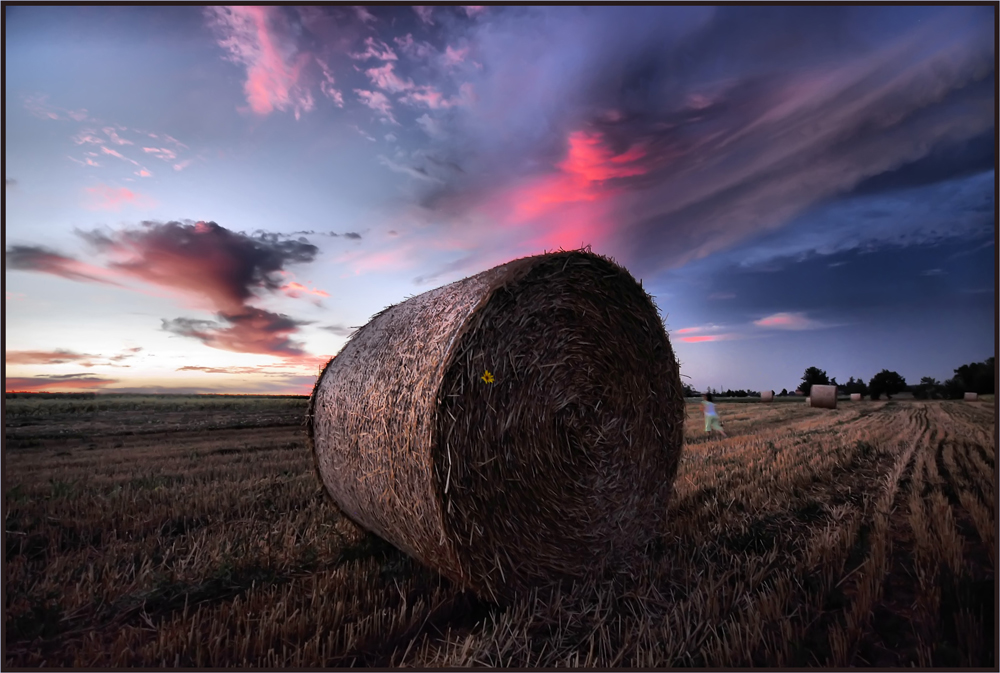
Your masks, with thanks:
[[[983,362],[970,362],[954,370],[955,375],[943,383],[931,376],[924,376],[920,383],[907,384],[906,379],[898,372],[883,369],[875,374],[868,383],[861,377],[850,377],[846,383],[838,383],[837,377],[830,377],[826,371],[819,367],[807,367],[802,374],[801,383],[796,384],[793,392],[788,392],[787,388],[782,388],[777,397],[787,397],[788,395],[809,395],[815,385],[837,386],[838,395],[850,395],[860,393],[862,396],[871,397],[873,400],[880,399],[885,395],[886,399],[892,399],[893,395],[903,392],[913,393],[913,397],[920,400],[956,400],[961,399],[965,393],[978,393],[980,395],[992,395],[996,392],[996,366],[995,359],[990,356]],[[705,391],[717,397],[760,397],[758,390],[717,390],[711,386]],[[702,393],[695,390],[690,384],[684,384],[685,397],[698,397]]]

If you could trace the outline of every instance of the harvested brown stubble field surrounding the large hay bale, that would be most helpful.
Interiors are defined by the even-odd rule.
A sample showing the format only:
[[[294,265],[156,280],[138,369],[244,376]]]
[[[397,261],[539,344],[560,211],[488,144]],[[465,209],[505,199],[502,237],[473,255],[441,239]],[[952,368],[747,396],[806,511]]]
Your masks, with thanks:
[[[7,667],[996,666],[992,402],[688,404],[640,571],[507,607],[340,515],[305,399],[112,402],[7,400]]]

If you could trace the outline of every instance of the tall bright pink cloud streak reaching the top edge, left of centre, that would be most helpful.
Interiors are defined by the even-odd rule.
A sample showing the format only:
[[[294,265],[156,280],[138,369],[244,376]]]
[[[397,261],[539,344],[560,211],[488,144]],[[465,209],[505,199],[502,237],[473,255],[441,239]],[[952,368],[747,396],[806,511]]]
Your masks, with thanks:
[[[243,90],[253,112],[268,115],[291,108],[298,119],[312,110],[312,94],[299,82],[311,57],[303,53],[293,58],[289,52],[294,49],[282,43],[281,36],[291,32],[283,10],[247,5],[213,7],[209,12],[221,35],[219,46],[229,52],[229,60],[246,67]]]

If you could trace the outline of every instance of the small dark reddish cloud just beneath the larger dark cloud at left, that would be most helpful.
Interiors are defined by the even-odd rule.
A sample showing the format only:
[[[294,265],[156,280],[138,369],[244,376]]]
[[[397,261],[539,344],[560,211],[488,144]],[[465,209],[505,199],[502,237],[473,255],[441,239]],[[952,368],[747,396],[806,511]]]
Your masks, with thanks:
[[[245,306],[240,312],[218,314],[219,322],[192,318],[163,319],[162,329],[178,336],[198,339],[206,346],[237,353],[302,356],[302,344],[291,335],[309,323],[286,315]]]

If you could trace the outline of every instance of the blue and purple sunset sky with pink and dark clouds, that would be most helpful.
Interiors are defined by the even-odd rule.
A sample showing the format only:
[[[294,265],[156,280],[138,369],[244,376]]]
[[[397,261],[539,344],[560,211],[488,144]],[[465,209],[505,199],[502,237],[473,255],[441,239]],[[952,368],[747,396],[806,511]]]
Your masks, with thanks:
[[[307,394],[584,245],[684,383],[995,352],[994,6],[5,6],[5,386]]]

